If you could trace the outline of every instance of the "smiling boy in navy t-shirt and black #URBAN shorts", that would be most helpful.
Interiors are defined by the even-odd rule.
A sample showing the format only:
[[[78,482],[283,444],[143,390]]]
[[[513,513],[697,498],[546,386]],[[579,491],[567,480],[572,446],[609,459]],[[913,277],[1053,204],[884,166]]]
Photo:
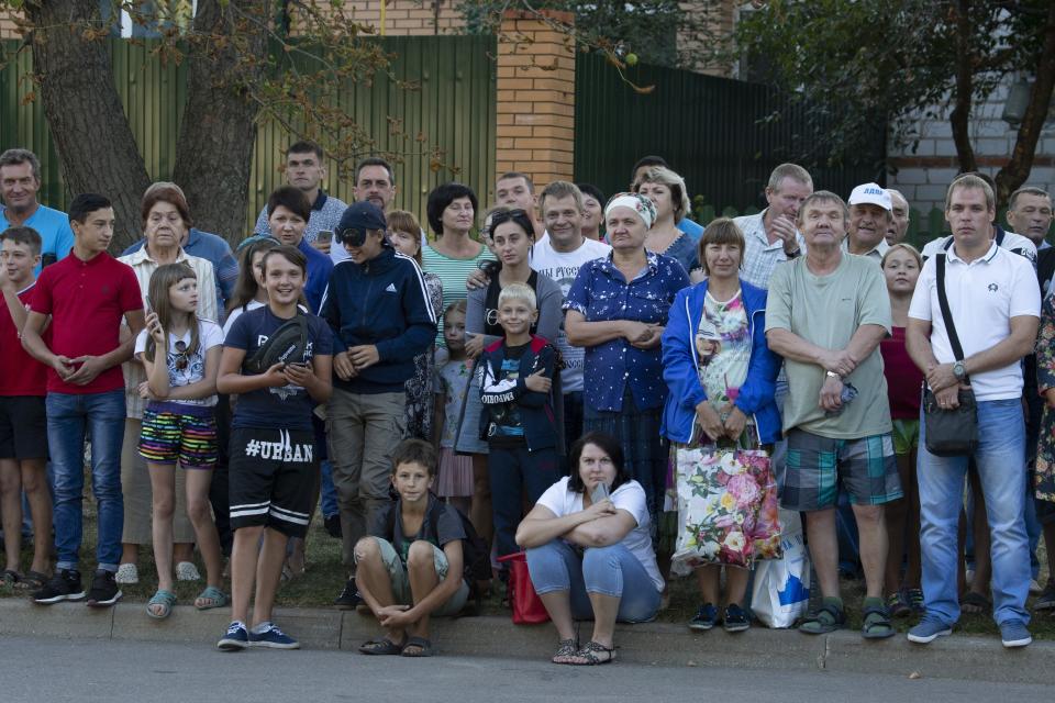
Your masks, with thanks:
[[[311,516],[319,461],[311,425],[312,401],[331,391],[333,335],[320,317],[297,303],[308,263],[293,246],[267,252],[260,264],[268,303],[242,314],[224,341],[216,390],[237,394],[231,421],[230,500],[234,548],[231,553],[231,625],[216,646],[296,649],[300,644],[271,622],[271,607],[290,537],[303,537]],[[304,315],[307,343],[292,347],[288,362],[253,373],[247,362],[282,325]],[[260,536],[263,534],[263,548]],[[256,579],[259,573],[259,579]],[[256,581],[253,621],[249,595]]]

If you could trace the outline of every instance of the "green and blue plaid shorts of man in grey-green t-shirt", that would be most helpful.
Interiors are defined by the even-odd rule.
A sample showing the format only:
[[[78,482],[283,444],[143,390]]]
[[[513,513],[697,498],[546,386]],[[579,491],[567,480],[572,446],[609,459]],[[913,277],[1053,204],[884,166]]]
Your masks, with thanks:
[[[790,431],[781,507],[800,512],[834,507],[840,483],[857,505],[881,505],[901,498],[890,434],[830,439]]]

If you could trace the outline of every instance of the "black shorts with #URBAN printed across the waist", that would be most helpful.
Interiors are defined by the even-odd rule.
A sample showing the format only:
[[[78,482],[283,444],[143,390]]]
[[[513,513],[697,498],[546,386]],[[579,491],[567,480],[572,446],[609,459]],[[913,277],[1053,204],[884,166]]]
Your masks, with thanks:
[[[264,525],[290,537],[308,533],[319,480],[311,429],[231,431],[231,527]]]

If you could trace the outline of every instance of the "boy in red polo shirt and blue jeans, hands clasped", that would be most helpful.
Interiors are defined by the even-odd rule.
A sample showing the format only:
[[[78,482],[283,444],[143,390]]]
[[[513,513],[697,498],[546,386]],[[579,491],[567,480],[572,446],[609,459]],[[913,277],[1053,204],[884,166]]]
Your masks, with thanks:
[[[36,281],[22,331],[25,350],[48,367],[47,440],[55,471],[55,576],[33,600],[42,604],[85,598],[77,561],[85,488],[84,448],[91,438],[91,489],[99,512],[98,567],[88,605],[113,605],[121,557],[124,500],[121,444],[124,439],[124,376],[144,326],[140,284],[131,267],[107,254],[113,238],[113,208],[103,196],[81,194],[69,205],[73,256],[44,269]],[[41,338],[51,316],[52,339]],[[121,342],[121,320],[131,336]]]

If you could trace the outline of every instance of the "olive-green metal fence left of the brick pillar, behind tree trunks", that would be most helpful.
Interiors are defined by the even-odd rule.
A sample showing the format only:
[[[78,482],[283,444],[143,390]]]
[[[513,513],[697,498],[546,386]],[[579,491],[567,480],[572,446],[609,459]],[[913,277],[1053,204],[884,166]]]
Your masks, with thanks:
[[[429,192],[457,179],[486,200],[495,182],[496,89],[493,36],[381,37],[393,55],[391,70],[398,80],[413,81],[417,90],[399,87],[387,76],[370,86],[349,83],[341,104],[377,143],[377,150],[399,155],[396,165],[396,205],[424,219]],[[146,170],[155,180],[167,180],[176,159],[176,138],[186,100],[186,64],[163,65],[151,55],[151,44],[110,40],[118,92],[125,107]],[[18,42],[0,43],[10,58]],[[0,58],[0,65],[4,62]],[[41,158],[41,201],[63,208],[65,191],[58,155],[47,129],[41,100],[32,100],[29,78],[32,57],[22,51],[0,68],[0,150],[30,148]],[[400,120],[402,134],[393,135],[389,119]],[[413,137],[424,135],[441,149],[444,167],[433,170],[431,155]],[[282,183],[282,150],[290,135],[274,123],[259,125],[251,175],[246,224],[252,226],[268,193]],[[449,168],[448,168],[449,167]],[[455,170],[456,169],[456,170]],[[325,189],[351,202],[352,182],[331,163]],[[423,223],[424,224],[424,223]]]

